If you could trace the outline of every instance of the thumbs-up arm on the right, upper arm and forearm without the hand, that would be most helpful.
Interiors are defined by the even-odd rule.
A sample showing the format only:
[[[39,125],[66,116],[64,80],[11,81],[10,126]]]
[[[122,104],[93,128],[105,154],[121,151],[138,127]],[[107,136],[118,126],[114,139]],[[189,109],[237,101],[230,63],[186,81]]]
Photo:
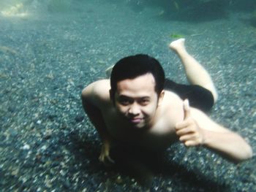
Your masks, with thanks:
[[[200,110],[195,108],[191,110],[192,117],[195,120],[192,124],[198,128],[194,129],[199,135],[201,145],[236,162],[252,157],[252,148],[239,134],[214,122]]]

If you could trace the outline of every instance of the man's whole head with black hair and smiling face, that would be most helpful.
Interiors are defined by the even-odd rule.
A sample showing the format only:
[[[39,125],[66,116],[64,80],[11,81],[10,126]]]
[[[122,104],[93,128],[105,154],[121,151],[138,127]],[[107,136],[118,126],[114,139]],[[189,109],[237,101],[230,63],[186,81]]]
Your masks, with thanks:
[[[150,127],[164,96],[164,82],[164,70],[155,58],[129,56],[113,67],[110,97],[132,127]]]

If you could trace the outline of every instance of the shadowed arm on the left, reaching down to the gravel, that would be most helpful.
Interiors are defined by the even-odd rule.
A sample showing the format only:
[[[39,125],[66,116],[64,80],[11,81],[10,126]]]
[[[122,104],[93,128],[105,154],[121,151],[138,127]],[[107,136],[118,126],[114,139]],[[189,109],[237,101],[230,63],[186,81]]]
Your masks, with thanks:
[[[104,97],[104,96],[103,96]],[[91,120],[91,123],[97,129],[99,137],[102,139],[102,150],[99,155],[99,161],[102,163],[113,163],[113,160],[110,158],[110,134],[105,126],[105,122],[102,117],[102,112],[99,109],[99,93],[97,92],[97,82],[92,83],[82,92],[82,103],[83,109],[85,110],[87,116]]]

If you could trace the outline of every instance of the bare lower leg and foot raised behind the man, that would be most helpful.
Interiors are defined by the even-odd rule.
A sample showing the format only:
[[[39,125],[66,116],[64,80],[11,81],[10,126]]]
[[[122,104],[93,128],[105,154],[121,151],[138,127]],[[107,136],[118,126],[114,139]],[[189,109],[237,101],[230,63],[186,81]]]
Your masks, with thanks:
[[[184,46],[185,39],[178,39],[170,43],[170,49],[174,50],[184,66],[187,79],[192,85],[200,85],[208,89],[214,96],[214,103],[217,101],[218,94],[206,69],[193,58]]]

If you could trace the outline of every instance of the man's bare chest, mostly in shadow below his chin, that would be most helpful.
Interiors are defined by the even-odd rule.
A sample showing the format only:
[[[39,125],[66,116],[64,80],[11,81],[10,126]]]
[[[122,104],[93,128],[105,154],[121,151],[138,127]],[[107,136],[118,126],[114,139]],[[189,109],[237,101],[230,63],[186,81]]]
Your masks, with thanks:
[[[148,129],[132,128],[118,117],[114,110],[103,115],[108,132],[116,141],[148,150],[164,150],[176,141],[175,122],[167,121],[164,117]]]

